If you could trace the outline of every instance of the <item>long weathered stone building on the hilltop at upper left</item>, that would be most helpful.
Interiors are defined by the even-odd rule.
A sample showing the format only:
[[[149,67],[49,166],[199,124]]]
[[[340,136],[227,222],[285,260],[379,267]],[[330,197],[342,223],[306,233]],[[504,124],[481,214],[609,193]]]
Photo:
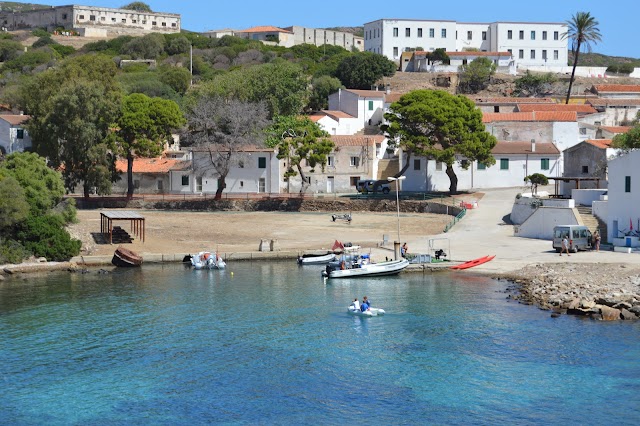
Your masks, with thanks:
[[[179,33],[180,15],[147,13],[95,6],[58,6],[27,12],[0,11],[0,22],[8,31],[46,28],[74,30],[86,37],[138,35],[151,32]]]

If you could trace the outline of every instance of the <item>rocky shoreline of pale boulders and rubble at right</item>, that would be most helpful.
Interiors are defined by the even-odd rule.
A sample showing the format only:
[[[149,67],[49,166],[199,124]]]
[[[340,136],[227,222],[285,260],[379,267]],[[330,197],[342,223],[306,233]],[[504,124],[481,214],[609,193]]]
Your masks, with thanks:
[[[596,320],[640,319],[640,266],[630,264],[533,264],[497,276],[512,283],[508,298],[561,314]]]

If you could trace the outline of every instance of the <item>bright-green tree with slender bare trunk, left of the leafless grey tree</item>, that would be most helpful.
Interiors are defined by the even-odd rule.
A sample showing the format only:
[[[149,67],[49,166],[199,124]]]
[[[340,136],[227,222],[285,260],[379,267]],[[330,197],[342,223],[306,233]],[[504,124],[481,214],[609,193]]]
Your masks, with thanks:
[[[118,153],[127,159],[127,197],[133,196],[133,159],[160,155],[171,132],[185,119],[176,104],[141,93],[123,97],[113,134]]]

